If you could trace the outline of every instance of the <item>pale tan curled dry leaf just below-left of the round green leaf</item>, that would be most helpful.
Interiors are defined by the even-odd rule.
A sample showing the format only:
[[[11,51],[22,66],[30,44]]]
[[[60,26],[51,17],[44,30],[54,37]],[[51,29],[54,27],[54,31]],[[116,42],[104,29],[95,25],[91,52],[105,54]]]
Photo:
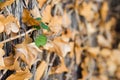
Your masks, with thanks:
[[[26,35],[26,39],[23,43],[16,45],[16,58],[20,57],[24,62],[26,62],[31,68],[31,65],[36,62],[37,55],[42,51],[35,45],[35,43],[30,43],[31,38]]]

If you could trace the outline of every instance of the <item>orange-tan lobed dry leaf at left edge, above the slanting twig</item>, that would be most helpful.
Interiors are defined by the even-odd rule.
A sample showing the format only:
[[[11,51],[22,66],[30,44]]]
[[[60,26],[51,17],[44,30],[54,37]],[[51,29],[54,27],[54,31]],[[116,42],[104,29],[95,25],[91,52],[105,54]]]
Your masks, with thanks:
[[[6,34],[10,34],[11,32],[17,33],[20,28],[20,24],[13,15],[8,15],[6,18],[3,15],[0,15],[0,25],[1,25],[1,32],[3,30]]]

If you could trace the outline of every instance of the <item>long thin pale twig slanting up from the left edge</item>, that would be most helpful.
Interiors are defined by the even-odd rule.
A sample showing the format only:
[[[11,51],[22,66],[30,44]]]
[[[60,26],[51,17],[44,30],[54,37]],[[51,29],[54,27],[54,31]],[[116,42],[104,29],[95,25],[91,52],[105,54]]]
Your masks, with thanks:
[[[6,39],[6,40],[0,42],[0,44],[4,44],[4,43],[6,43],[6,42],[9,42],[9,41],[15,40],[15,39],[17,39],[17,38],[23,37],[23,36],[25,36],[26,34],[28,34],[28,33],[30,33],[30,32],[33,32],[33,31],[35,31],[35,30],[36,30],[36,29],[34,29],[34,28],[33,28],[33,29],[30,29],[30,30],[28,30],[26,33],[22,33],[22,34],[20,34],[20,35],[15,36],[15,37],[11,37],[11,38],[9,38],[9,39]]]

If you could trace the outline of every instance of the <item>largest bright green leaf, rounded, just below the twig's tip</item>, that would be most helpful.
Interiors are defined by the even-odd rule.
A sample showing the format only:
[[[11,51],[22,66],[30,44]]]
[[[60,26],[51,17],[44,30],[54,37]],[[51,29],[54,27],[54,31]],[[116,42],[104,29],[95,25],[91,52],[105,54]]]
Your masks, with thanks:
[[[35,44],[36,46],[40,47],[43,46],[47,43],[47,37],[43,34],[40,34],[36,39],[35,39]]]

